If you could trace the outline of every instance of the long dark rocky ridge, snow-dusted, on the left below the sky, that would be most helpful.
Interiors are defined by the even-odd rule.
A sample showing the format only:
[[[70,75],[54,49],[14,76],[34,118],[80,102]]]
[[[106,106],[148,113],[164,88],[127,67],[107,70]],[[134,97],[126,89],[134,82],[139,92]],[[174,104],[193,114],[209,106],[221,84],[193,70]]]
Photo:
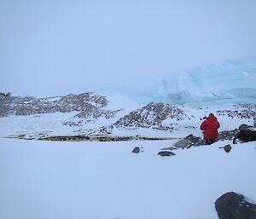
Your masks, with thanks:
[[[105,96],[93,93],[46,98],[15,96],[0,93],[0,117],[33,115],[53,112],[78,112],[79,118],[113,118],[115,111],[106,110]]]

